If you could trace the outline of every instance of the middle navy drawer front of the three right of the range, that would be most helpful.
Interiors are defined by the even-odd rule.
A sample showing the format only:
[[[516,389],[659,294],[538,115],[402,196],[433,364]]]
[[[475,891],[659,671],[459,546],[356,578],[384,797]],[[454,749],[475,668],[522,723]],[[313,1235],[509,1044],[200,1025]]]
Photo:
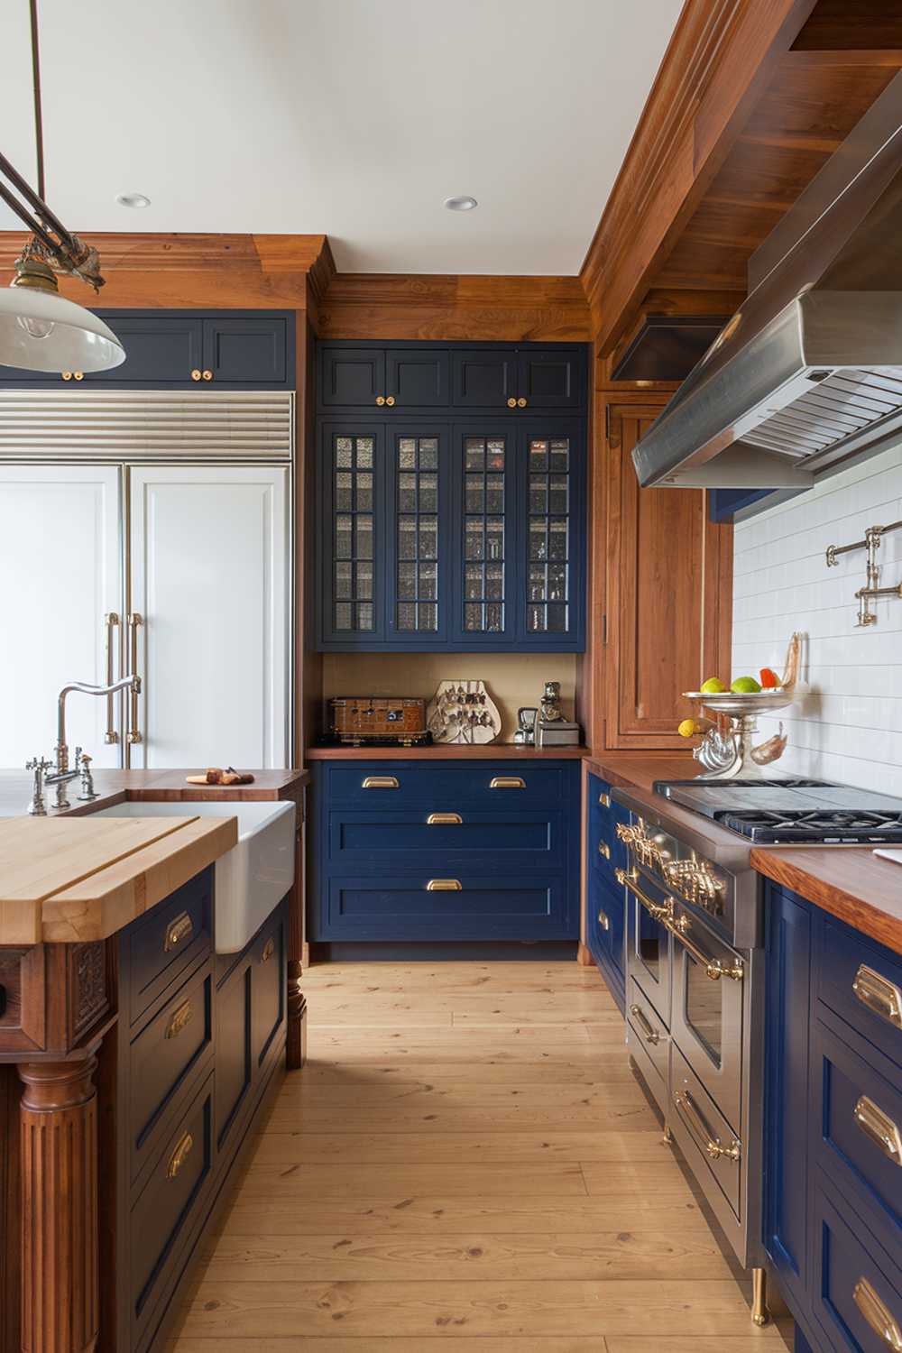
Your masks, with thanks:
[[[865,1047],[868,1045],[864,1045]],[[856,1212],[902,1235],[902,1076],[887,1080],[815,1020],[811,1151]],[[883,1059],[886,1069],[893,1063]]]

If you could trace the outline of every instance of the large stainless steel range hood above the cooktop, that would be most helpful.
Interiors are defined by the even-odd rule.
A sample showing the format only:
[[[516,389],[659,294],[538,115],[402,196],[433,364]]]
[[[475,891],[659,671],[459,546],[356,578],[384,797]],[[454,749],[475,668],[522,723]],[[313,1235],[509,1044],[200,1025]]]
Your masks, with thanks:
[[[633,451],[640,483],[805,488],[902,440],[902,73],[749,262]]]

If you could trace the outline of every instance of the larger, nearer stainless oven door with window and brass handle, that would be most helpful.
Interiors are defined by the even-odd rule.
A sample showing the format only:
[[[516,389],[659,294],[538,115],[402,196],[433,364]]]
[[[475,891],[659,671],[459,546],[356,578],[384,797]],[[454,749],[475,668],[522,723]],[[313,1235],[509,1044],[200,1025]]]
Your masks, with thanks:
[[[673,1043],[738,1137],[748,963],[679,904],[671,930]]]

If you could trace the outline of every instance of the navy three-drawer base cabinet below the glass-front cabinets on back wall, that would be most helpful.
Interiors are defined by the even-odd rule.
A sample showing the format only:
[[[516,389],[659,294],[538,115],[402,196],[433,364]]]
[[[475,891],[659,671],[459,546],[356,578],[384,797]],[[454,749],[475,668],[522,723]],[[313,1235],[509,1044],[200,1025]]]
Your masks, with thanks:
[[[573,940],[576,760],[314,766],[314,940]]]

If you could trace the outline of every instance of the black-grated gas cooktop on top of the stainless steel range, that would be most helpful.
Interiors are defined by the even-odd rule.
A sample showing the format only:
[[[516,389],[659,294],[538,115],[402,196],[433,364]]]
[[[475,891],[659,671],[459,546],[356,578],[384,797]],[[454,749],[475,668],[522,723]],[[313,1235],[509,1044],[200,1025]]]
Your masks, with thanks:
[[[825,779],[659,779],[655,793],[756,844],[902,842],[902,798]]]

